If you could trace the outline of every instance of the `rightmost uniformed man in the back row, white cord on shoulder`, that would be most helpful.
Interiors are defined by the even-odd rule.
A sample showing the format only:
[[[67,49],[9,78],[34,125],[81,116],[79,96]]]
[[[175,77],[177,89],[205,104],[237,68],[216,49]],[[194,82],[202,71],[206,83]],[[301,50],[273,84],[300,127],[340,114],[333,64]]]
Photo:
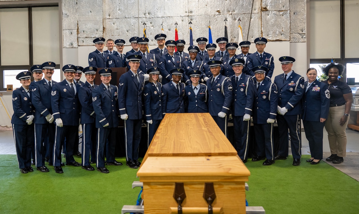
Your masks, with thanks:
[[[252,68],[256,66],[266,66],[268,68],[268,72],[266,73],[266,80],[271,81],[274,71],[274,58],[272,54],[264,52],[264,48],[266,47],[267,42],[267,39],[264,37],[258,37],[254,40],[254,43],[256,43],[257,52],[248,56],[249,60],[246,63],[246,71],[249,75],[255,78]]]

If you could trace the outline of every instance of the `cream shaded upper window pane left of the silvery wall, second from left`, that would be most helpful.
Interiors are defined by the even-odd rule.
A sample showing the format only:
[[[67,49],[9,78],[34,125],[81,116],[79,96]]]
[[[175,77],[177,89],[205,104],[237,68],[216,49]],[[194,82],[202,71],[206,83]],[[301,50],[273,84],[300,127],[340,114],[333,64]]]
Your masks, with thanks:
[[[32,35],[33,64],[60,64],[59,7],[32,8]]]

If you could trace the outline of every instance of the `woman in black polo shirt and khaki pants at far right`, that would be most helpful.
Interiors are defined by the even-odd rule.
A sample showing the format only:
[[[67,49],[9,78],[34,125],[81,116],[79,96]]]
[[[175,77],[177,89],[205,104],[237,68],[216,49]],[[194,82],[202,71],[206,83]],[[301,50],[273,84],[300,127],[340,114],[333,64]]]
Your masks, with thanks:
[[[344,72],[344,65],[333,62],[323,68],[328,79],[323,81],[330,91],[330,107],[325,129],[328,132],[328,141],[331,156],[326,161],[333,163],[343,162],[346,156],[346,125],[348,124],[349,111],[353,101],[350,87],[338,80],[338,76]]]

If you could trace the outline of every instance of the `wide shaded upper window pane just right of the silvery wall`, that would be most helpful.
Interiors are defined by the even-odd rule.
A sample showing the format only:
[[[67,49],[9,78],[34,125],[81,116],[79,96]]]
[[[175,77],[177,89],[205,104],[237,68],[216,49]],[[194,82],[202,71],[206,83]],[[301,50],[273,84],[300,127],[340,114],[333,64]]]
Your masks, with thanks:
[[[310,58],[340,58],[340,0],[311,0],[309,25]]]

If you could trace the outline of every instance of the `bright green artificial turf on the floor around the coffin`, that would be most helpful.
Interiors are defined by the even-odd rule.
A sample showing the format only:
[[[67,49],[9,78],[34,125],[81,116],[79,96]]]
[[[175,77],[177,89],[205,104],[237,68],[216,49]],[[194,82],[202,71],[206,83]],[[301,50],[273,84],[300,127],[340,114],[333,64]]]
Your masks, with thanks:
[[[266,214],[359,213],[359,182],[308,158],[303,155],[300,166],[292,166],[291,156],[272,166],[248,159],[249,205],[263,206]],[[135,205],[140,188],[131,187],[137,170],[125,166],[125,158],[116,160],[124,166],[107,166],[108,174],[73,166],[64,166],[63,174],[53,167],[22,174],[15,155],[0,155],[0,213],[121,213],[123,205]]]

